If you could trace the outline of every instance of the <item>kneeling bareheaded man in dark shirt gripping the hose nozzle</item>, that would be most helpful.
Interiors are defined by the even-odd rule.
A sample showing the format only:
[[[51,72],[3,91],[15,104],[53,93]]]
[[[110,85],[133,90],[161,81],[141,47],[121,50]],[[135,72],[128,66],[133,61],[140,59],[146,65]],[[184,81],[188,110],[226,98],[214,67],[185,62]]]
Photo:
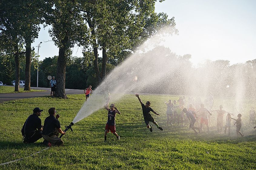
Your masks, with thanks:
[[[48,112],[50,116],[45,118],[44,129],[42,133],[45,141],[43,143],[47,144],[48,146],[61,146],[63,145],[63,141],[58,136],[59,133],[64,135],[65,132],[61,130],[61,125],[58,121],[59,115],[57,114],[55,118],[57,111],[55,111],[54,107],[50,108]]]

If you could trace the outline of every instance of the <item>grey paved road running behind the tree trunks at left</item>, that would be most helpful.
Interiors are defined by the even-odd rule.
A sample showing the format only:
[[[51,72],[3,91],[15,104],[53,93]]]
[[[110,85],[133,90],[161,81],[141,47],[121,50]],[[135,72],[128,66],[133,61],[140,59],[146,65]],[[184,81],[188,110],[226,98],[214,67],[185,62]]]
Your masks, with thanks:
[[[20,91],[23,90],[22,88],[23,87],[20,87]],[[22,99],[22,98],[35,98],[35,97],[47,96],[51,94],[51,88],[31,87],[31,89],[46,90],[46,91],[36,91],[36,92],[26,92],[26,93],[4,93],[4,94],[1,93],[0,102],[10,101],[15,99]],[[65,92],[67,95],[84,94],[84,90],[77,90],[77,89],[65,89]]]

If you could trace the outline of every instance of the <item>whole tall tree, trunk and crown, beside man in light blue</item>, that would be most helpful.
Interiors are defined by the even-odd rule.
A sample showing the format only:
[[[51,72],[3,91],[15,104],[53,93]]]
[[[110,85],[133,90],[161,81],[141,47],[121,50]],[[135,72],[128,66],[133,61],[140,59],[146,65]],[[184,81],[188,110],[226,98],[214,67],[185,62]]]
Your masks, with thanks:
[[[71,47],[83,37],[86,40],[87,26],[81,12],[78,10],[78,1],[53,0],[54,9],[49,15],[49,24],[52,29],[49,33],[55,45],[59,47],[57,62],[57,88],[55,97],[67,98],[65,93],[65,74],[67,59],[71,55]]]

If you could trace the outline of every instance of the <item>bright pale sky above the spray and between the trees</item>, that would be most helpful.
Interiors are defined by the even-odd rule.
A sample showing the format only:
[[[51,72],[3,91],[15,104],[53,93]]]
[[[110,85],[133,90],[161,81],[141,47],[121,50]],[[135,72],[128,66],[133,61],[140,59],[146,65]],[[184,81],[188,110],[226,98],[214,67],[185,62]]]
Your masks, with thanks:
[[[175,17],[179,35],[167,37],[165,46],[178,55],[191,54],[191,62],[204,59],[229,60],[231,64],[256,59],[256,1],[254,0],[165,0],[157,2],[155,11]],[[39,60],[58,55],[58,48],[42,28],[32,46],[43,43]],[[37,53],[37,47],[35,51]],[[82,56],[75,47],[73,56]]]

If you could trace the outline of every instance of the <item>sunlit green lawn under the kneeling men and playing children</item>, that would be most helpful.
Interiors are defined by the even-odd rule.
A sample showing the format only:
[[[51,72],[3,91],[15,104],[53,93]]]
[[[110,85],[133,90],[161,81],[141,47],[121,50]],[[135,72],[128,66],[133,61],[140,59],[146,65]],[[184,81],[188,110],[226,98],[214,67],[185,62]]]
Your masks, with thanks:
[[[22,125],[34,107],[44,110],[40,117],[42,122],[48,116],[48,109],[56,107],[64,130],[85,101],[84,95],[68,97],[67,100],[29,98],[0,104],[0,163],[46,148],[40,145],[42,139],[33,144],[21,143]],[[0,166],[0,169],[256,169],[253,129],[244,128],[243,138],[235,136],[235,127],[231,129],[231,137],[216,134],[215,127],[210,128],[210,134],[204,128],[203,133],[195,135],[188,125],[166,126],[163,101],[178,99],[178,96],[140,97],[144,102],[150,100],[151,107],[161,115],[152,114],[163,131],[153,125],[153,132],[150,132],[145,127],[138,99],[126,95],[116,103],[121,112],[116,116],[120,141],[108,133],[108,142],[103,142],[107,111],[101,109],[75,123],[74,131],[68,131],[62,138],[64,146],[51,147],[22,161]],[[216,100],[216,106],[218,104]]]

